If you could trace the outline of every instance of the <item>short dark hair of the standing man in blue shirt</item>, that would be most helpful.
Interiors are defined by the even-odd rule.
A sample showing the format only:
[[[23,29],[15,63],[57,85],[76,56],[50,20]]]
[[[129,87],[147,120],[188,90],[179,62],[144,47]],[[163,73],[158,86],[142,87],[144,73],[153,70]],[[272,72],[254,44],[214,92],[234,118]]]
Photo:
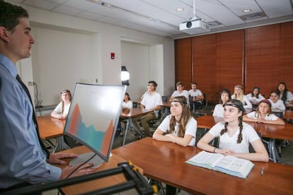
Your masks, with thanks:
[[[0,26],[13,30],[18,25],[19,18],[28,18],[28,11],[21,6],[0,0]]]

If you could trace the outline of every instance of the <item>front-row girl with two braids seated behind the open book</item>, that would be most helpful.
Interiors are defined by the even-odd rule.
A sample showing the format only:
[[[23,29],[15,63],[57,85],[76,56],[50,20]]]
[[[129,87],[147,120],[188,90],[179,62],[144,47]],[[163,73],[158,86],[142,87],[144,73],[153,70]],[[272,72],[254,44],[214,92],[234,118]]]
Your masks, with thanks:
[[[244,107],[239,100],[229,100],[224,104],[224,122],[215,124],[197,143],[197,147],[212,153],[222,153],[246,160],[268,162],[268,152],[249,124],[242,122]],[[209,143],[219,137],[219,148]],[[255,153],[249,153],[249,143]]]

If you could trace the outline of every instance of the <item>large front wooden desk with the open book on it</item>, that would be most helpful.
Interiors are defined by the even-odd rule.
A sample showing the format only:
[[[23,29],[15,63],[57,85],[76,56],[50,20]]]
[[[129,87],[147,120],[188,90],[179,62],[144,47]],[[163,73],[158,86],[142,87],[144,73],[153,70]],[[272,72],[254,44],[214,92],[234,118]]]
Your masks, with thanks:
[[[292,194],[293,166],[274,162],[253,162],[255,167],[247,179],[188,165],[185,160],[199,153],[195,147],[143,138],[113,150],[144,175],[193,194]],[[260,175],[261,167],[265,168]]]

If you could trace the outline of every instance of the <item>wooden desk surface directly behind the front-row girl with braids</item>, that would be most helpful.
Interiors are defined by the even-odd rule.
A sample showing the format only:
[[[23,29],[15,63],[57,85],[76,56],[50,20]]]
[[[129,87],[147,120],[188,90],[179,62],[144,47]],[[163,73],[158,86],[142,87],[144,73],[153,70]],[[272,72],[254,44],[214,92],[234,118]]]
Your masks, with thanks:
[[[214,124],[222,121],[222,118],[212,116],[202,116],[197,119],[197,127],[211,129]],[[246,122],[253,126],[255,131],[258,131],[265,138],[279,138],[293,141],[293,124],[277,125],[263,124],[255,122]]]

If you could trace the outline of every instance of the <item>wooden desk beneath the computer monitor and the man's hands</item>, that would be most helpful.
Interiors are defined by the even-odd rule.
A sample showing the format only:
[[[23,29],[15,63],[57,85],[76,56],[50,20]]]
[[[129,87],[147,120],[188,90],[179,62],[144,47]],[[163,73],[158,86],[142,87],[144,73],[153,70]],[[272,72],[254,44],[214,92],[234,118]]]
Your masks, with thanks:
[[[62,153],[75,153],[75,154],[81,154],[81,153],[88,153],[91,152],[90,149],[86,148],[86,146],[80,146],[76,148],[71,148],[69,150],[63,150]],[[58,167],[66,167],[71,159],[66,159],[67,164],[66,165],[58,165]],[[117,167],[117,164],[119,162],[125,162],[126,160],[118,157],[117,155],[113,155],[110,157],[108,162],[104,162],[100,167],[96,169],[96,171],[100,170],[107,170],[110,168]],[[143,172],[141,168],[139,168],[139,172]],[[69,187],[63,187],[62,191],[64,191],[65,194],[83,194],[87,191],[93,191],[96,189],[101,189],[103,187],[109,187],[111,185],[120,184],[121,182],[126,182],[124,175],[121,173],[119,175],[112,175],[109,177],[104,177],[101,179],[92,180],[90,182],[83,182],[81,184],[74,184]]]

